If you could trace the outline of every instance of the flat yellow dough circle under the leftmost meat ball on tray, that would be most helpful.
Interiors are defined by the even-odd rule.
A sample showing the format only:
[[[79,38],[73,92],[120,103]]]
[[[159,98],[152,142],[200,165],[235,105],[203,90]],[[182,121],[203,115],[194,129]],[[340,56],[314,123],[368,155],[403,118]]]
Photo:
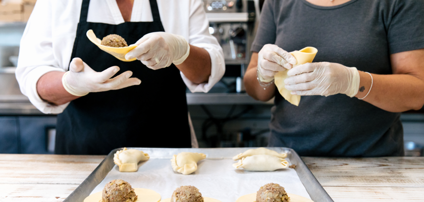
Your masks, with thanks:
[[[162,197],[156,191],[143,188],[134,188],[137,199],[134,202],[159,202]],[[93,193],[84,199],[84,202],[101,202],[101,191]]]

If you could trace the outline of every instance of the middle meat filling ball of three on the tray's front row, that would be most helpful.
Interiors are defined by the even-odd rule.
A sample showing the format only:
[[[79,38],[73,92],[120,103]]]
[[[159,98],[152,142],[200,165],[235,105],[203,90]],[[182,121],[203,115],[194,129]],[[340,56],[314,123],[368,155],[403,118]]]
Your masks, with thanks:
[[[204,200],[196,187],[181,186],[172,193],[171,202],[204,202]]]

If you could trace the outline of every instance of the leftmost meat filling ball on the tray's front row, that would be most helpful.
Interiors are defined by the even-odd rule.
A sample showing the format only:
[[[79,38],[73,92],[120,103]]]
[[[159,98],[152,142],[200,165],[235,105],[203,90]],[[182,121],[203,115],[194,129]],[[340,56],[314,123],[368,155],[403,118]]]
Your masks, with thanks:
[[[137,195],[128,182],[112,180],[104,186],[101,199],[103,202],[133,202]]]

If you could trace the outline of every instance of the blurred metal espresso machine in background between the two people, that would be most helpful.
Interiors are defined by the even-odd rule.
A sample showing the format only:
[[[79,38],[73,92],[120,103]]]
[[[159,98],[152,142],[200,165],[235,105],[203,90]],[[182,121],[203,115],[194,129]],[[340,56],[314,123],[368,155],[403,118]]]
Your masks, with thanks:
[[[218,39],[224,52],[226,73],[217,84],[227,92],[243,92],[243,76],[250,61],[250,46],[258,21],[258,1],[203,0],[209,33]]]

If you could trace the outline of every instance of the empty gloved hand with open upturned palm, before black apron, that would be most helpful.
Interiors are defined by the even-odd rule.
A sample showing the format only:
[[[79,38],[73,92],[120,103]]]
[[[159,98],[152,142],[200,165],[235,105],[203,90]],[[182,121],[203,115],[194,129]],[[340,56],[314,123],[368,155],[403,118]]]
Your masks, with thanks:
[[[74,58],[69,65],[69,71],[62,77],[62,84],[69,93],[84,96],[89,92],[117,90],[141,83],[138,78],[130,78],[131,71],[111,79],[118,71],[119,67],[114,66],[102,72],[96,72],[80,58]]]

